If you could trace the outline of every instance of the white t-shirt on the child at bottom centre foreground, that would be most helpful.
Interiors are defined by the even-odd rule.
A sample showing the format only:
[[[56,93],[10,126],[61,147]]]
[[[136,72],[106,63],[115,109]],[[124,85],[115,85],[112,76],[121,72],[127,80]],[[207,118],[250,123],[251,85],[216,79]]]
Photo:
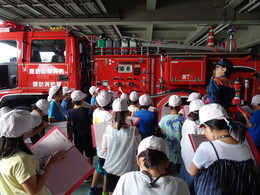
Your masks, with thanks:
[[[156,178],[153,178],[156,179]],[[149,187],[150,178],[141,171],[133,171],[122,175],[113,195],[189,195],[187,184],[172,176],[160,177]]]

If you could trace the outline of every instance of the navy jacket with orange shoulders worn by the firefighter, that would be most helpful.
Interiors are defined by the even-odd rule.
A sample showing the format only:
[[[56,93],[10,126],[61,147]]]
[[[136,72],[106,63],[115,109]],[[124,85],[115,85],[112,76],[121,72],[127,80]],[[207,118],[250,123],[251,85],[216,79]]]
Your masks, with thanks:
[[[221,104],[226,110],[235,97],[235,89],[231,81],[224,76],[212,78],[207,88],[205,102]]]

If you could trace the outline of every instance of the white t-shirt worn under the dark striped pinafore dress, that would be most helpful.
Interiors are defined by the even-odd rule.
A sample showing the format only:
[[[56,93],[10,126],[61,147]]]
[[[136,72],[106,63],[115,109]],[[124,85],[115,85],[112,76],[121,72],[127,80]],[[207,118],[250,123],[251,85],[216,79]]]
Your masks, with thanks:
[[[252,159],[250,149],[245,144],[228,144],[220,140],[212,141],[220,159],[244,161]],[[216,153],[210,142],[200,144],[193,157],[197,168],[208,168],[217,160]]]

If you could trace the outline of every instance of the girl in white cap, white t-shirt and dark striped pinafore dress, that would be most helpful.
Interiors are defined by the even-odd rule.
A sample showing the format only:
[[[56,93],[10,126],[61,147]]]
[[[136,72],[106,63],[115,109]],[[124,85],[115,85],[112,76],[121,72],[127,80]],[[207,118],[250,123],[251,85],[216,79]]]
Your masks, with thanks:
[[[208,142],[196,150],[190,167],[195,178],[195,194],[258,194],[259,178],[255,173],[250,149],[242,141],[245,126],[231,121],[220,104],[207,104],[199,110],[201,127]],[[238,141],[230,135],[236,134]]]

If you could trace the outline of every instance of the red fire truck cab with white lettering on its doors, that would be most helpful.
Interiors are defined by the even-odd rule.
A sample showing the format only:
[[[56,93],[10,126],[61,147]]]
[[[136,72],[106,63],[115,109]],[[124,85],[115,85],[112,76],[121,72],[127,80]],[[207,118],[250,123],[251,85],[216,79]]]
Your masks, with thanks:
[[[28,107],[53,85],[75,89],[90,84],[90,49],[69,30],[0,26],[0,107]],[[84,87],[83,87],[84,86]]]

